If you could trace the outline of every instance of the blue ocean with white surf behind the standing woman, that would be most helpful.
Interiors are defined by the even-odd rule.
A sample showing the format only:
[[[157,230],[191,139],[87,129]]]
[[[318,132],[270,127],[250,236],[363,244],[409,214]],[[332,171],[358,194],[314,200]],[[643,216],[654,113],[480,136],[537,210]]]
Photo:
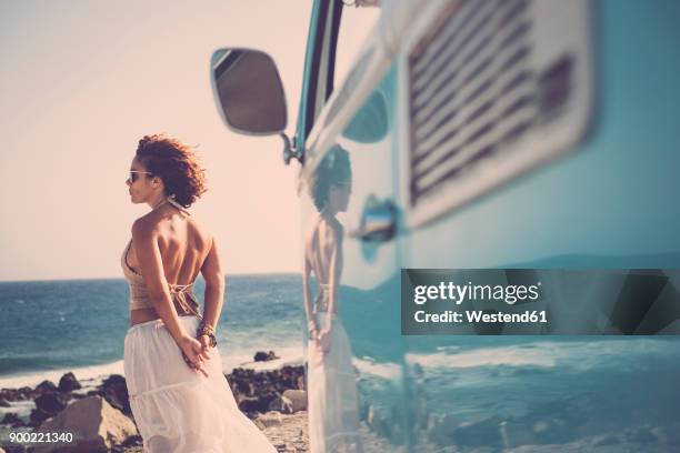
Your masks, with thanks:
[[[217,329],[224,372],[302,362],[299,274],[230,275]],[[202,303],[204,283],[197,281]],[[0,282],[0,389],[122,374],[129,329],[124,279]],[[251,363],[257,351],[280,358]]]

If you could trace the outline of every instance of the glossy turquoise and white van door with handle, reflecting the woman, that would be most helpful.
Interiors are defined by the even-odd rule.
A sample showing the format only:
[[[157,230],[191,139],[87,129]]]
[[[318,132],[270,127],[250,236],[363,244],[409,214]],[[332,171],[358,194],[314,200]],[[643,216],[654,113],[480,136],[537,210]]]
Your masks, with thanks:
[[[388,451],[389,445],[407,444],[391,133],[396,72],[379,46],[377,29],[368,34],[343,80],[336,78],[340,71],[336,63],[341,61],[336,56],[344,43],[339,38],[352,39],[357,34],[357,22],[352,20],[357,16],[352,14],[377,19],[379,12],[347,8],[341,1],[314,3],[297,130],[297,143],[304,150],[299,188],[303,243],[306,259],[317,271],[311,282],[312,298],[323,305],[332,254],[329,241],[334,242],[341,271],[333,330],[336,325],[343,326],[349,340],[347,353],[351,355],[349,369],[342,358],[337,363],[329,360],[334,364],[328,365],[333,372],[326,370],[327,379],[328,374],[337,379],[327,382],[326,395],[314,394],[321,391],[314,382],[322,379],[323,372],[308,355],[310,405],[316,399],[329,402],[327,413],[321,414],[328,422],[340,416],[338,411],[348,411],[356,404],[358,417],[368,426],[368,431],[360,431],[358,441],[364,451]],[[366,17],[357,21],[366,22]],[[343,27],[352,32],[343,33]],[[333,336],[333,341],[343,340]],[[338,344],[331,343],[328,358],[340,349]],[[357,382],[357,396],[347,390],[350,384],[343,375]],[[356,402],[348,401],[353,397]],[[312,431],[322,423],[317,415],[319,411],[310,407]],[[357,439],[333,437],[332,432],[320,430],[310,431],[310,435],[326,436],[326,451],[353,451]]]

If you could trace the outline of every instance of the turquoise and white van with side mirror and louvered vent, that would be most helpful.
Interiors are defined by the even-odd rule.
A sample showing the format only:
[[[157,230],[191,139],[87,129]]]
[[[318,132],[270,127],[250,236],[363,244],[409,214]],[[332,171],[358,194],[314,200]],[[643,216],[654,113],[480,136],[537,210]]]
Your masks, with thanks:
[[[300,299],[349,342],[311,451],[680,451],[672,338],[400,330],[404,268],[680,268],[680,2],[356,3],[379,18],[341,80],[351,6],[313,3],[292,138],[271,57],[212,58],[228,127],[300,163]],[[312,433],[314,392],[352,432]]]

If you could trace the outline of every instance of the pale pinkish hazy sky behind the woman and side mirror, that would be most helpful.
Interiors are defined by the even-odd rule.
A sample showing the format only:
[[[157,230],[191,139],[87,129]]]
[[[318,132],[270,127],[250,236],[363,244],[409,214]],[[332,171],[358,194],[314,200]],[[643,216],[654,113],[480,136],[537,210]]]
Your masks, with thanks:
[[[292,134],[311,1],[0,3],[0,281],[120,278],[148,205],[124,180],[139,139],[198,145],[209,192],[191,212],[227,273],[299,272],[298,164],[279,137],[222,124],[209,62],[220,47],[276,60]]]

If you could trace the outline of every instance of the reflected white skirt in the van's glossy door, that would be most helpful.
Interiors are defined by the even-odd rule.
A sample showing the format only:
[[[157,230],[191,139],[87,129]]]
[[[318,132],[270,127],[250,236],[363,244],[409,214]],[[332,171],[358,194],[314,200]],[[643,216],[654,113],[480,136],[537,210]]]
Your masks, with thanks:
[[[323,330],[327,313],[314,316]],[[307,372],[310,452],[361,452],[357,374],[349,339],[338,318],[333,316],[330,349],[326,354],[316,341],[309,341]]]

